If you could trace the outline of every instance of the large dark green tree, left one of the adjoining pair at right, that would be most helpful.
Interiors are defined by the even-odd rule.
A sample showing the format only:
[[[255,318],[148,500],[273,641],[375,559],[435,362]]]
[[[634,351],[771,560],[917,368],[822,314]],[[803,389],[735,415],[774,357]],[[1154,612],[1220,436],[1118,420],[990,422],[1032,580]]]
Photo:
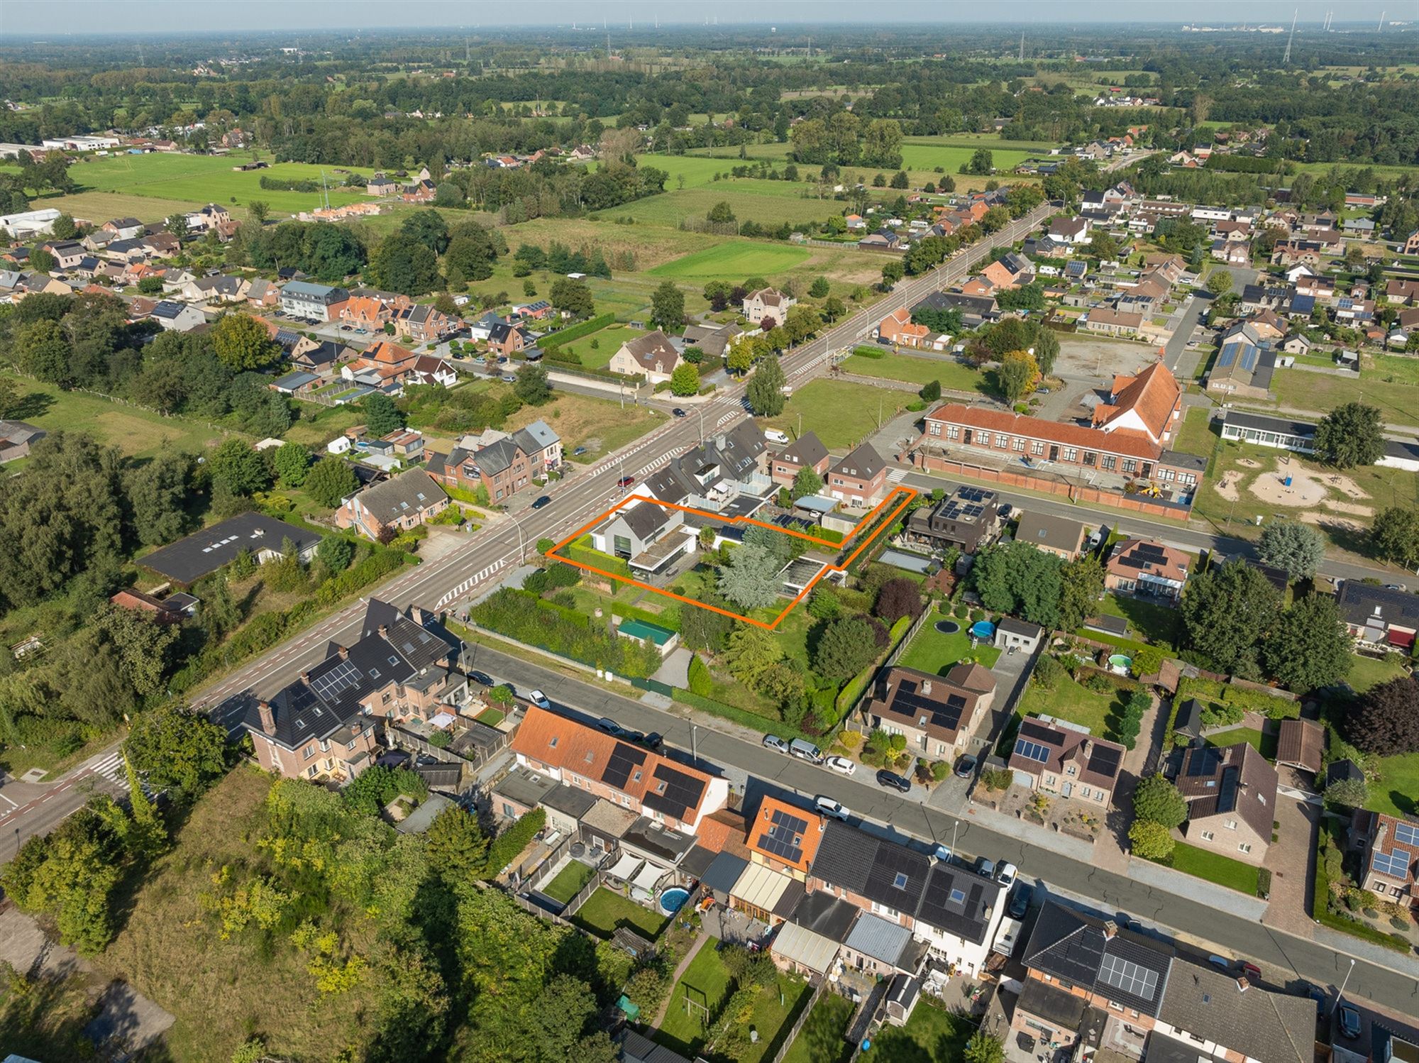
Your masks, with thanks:
[[[1260,569],[1229,561],[1188,580],[1179,612],[1188,644],[1216,671],[1260,678],[1257,646],[1276,623],[1280,596]]]

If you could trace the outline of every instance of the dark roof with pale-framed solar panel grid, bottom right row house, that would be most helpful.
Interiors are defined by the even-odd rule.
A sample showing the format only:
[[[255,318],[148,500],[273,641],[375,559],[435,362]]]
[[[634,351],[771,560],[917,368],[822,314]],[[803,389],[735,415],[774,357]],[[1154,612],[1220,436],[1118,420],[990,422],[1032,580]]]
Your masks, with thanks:
[[[1044,903],[1025,948],[1033,971],[1093,989],[1145,1015],[1158,1015],[1174,949],[1128,930],[1108,931],[1103,920]]]

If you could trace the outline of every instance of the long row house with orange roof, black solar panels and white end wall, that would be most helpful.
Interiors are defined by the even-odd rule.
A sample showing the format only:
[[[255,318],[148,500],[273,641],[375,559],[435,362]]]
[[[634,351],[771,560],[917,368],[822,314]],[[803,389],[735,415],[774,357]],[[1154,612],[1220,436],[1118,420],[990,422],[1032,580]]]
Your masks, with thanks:
[[[524,768],[684,835],[695,835],[729,798],[727,779],[536,705],[528,708],[512,752]]]

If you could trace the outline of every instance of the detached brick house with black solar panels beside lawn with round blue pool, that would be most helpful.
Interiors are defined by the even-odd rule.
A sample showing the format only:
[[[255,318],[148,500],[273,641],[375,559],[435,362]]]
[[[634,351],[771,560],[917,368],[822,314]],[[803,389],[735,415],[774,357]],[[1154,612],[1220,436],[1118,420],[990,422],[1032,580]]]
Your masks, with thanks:
[[[995,676],[979,664],[958,664],[944,677],[894,667],[877,677],[866,714],[874,728],[904,735],[922,759],[955,761],[993,700]]]

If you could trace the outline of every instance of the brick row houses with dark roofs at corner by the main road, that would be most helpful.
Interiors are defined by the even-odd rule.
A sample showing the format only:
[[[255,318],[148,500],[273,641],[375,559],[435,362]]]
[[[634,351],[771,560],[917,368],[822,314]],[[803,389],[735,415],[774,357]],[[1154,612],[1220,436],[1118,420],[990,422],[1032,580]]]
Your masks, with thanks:
[[[348,781],[377,755],[386,722],[427,720],[463,700],[467,678],[457,659],[457,639],[433,615],[370,599],[356,643],[336,644],[270,700],[253,698],[240,725],[267,771]]]

